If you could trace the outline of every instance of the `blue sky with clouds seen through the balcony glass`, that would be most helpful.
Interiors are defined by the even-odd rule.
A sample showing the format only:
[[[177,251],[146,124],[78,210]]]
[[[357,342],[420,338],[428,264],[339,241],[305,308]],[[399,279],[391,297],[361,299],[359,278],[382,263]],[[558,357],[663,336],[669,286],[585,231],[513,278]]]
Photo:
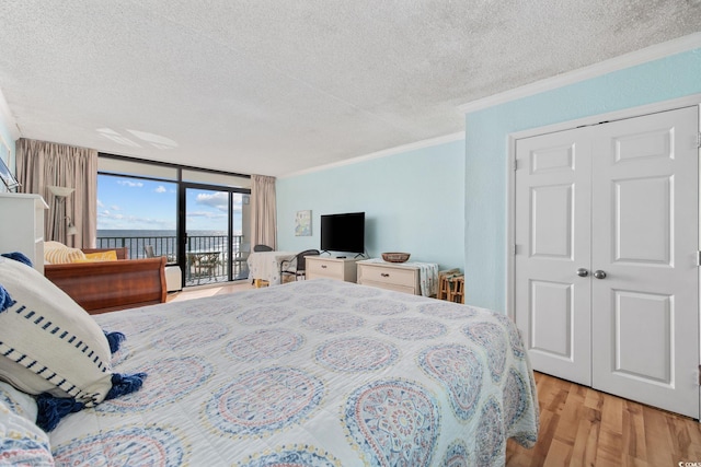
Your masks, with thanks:
[[[97,230],[176,229],[177,184],[97,175]],[[228,192],[188,188],[187,232],[227,232]],[[233,200],[233,234],[241,234],[241,195]]]

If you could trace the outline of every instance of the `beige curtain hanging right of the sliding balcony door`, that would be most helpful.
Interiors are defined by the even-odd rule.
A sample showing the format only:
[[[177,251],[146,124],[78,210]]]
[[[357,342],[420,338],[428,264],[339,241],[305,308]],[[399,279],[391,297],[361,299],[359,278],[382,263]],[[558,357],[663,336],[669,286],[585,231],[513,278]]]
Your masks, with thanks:
[[[251,244],[277,249],[275,177],[251,175]]]

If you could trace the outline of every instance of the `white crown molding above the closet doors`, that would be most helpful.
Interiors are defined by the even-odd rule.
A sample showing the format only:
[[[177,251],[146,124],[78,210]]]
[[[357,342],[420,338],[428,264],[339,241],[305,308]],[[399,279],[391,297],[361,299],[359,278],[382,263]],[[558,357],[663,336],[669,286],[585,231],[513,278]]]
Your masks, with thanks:
[[[669,57],[671,55],[692,50],[699,47],[701,47],[701,33],[693,33],[662,44],[645,47],[630,54],[624,54],[608,60],[604,60],[588,67],[558,74],[552,78],[545,78],[544,80],[536,81],[535,83],[515,87],[503,93],[494,94],[484,98],[479,98],[476,101],[472,101],[458,106],[458,109],[463,114],[470,114],[472,112],[482,110],[494,105],[499,105],[522,97],[528,97],[541,92],[551,91],[556,87],[566,86],[579,81],[597,78],[607,73],[611,73],[613,71],[619,71],[648,61],[658,60],[660,58]]]

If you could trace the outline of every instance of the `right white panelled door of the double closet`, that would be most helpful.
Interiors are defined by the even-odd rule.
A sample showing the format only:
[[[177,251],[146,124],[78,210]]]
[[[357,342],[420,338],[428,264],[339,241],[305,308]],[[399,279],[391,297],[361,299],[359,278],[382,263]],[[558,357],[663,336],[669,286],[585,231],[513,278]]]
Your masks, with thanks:
[[[593,143],[593,386],[699,417],[698,108]],[[600,275],[599,275],[600,276]]]

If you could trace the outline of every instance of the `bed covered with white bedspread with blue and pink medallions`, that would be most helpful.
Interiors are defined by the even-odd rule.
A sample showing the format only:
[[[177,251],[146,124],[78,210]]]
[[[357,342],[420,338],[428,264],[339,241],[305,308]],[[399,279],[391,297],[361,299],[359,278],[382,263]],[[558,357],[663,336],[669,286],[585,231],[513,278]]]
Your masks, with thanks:
[[[66,417],[59,466],[503,465],[538,401],[502,314],[330,280],[94,317],[140,390]]]

